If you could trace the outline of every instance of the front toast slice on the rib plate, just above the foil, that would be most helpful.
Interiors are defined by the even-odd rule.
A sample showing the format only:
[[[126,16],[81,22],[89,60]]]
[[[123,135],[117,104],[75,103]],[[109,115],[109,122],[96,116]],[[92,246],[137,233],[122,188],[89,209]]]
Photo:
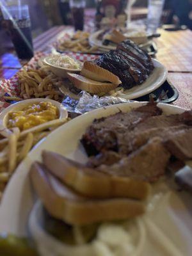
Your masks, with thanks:
[[[79,74],[67,73],[67,77],[74,84],[74,86],[90,93],[107,93],[114,90],[118,86],[118,84],[94,81]]]

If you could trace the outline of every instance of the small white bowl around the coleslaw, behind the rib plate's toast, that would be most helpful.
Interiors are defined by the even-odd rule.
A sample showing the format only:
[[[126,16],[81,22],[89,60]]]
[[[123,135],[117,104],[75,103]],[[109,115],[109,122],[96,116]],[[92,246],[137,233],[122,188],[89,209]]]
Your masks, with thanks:
[[[58,67],[57,65],[54,65],[54,64],[51,63],[51,60],[53,60],[53,59],[56,60],[60,56],[61,56],[61,54],[56,54],[55,56],[47,56],[42,61],[45,63],[45,65],[48,65],[50,67],[52,73],[54,73],[56,76],[59,76],[59,77],[66,78],[67,77],[67,72],[79,73],[81,71],[81,69],[83,67],[83,63],[81,61],[76,60],[72,56],[69,56],[69,57],[74,59],[75,61],[77,61],[77,63],[80,64],[80,68]]]

